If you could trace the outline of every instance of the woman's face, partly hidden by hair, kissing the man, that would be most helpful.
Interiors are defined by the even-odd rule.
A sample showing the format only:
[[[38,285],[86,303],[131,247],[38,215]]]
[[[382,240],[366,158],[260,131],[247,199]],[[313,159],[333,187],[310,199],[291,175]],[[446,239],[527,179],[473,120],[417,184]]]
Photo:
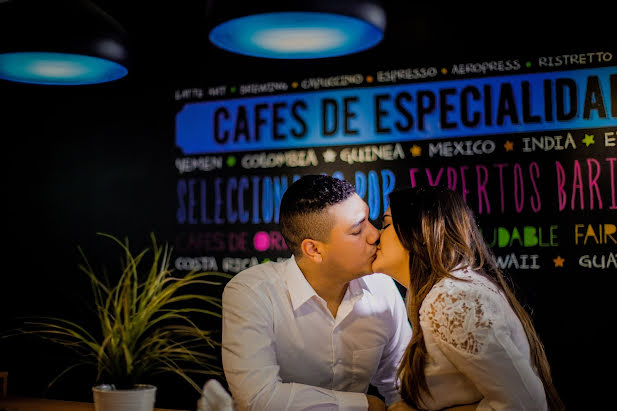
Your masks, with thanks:
[[[409,251],[407,251],[394,230],[390,207],[383,216],[381,237],[377,245],[377,257],[373,261],[373,271],[394,278],[409,288]]]

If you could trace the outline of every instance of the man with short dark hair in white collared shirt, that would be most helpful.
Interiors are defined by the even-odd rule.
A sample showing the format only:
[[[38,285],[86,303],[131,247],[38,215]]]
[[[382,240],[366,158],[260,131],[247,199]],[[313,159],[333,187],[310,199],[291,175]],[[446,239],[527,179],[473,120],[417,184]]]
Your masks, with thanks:
[[[393,280],[372,273],[379,232],[353,186],[294,182],[280,206],[293,256],[238,273],[223,292],[223,368],[240,410],[385,410],[411,339]]]

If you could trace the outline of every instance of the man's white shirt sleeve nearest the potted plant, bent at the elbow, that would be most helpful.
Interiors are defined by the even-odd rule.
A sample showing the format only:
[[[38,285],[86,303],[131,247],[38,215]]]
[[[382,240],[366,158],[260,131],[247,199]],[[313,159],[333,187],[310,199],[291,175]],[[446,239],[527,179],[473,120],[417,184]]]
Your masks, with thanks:
[[[230,282],[223,291],[222,360],[239,411],[366,411],[362,393],[283,383],[276,359],[271,303],[247,285]]]

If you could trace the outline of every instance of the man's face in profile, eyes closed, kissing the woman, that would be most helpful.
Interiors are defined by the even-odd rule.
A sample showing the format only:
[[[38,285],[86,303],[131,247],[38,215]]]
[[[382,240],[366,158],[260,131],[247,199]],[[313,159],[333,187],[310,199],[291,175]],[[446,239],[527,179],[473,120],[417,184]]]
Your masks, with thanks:
[[[328,210],[334,219],[330,238],[324,242],[324,269],[343,281],[373,272],[379,231],[369,221],[366,203],[353,194]]]

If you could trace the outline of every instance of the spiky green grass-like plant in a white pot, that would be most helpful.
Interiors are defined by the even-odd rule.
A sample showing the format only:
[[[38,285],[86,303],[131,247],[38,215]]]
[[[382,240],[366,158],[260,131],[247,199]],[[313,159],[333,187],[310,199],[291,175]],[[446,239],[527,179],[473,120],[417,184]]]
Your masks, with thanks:
[[[84,261],[79,268],[92,286],[99,330],[88,330],[68,319],[41,317],[25,321],[12,335],[43,337],[78,355],[80,361],[50,385],[77,366],[94,366],[98,385],[93,394],[99,411],[152,410],[156,387],[144,381],[162,373],[178,375],[201,393],[192,375],[221,375],[221,369],[215,364],[217,357],[209,352],[218,344],[214,330],[200,326],[200,317],[220,317],[220,298],[208,293],[210,287],[231,276],[198,271],[174,276],[172,250],[159,245],[153,234],[152,248],[136,255],[128,240],[98,234],[114,241],[123,257],[119,279],[109,285],[79,248]],[[151,264],[142,271],[148,254]]]

